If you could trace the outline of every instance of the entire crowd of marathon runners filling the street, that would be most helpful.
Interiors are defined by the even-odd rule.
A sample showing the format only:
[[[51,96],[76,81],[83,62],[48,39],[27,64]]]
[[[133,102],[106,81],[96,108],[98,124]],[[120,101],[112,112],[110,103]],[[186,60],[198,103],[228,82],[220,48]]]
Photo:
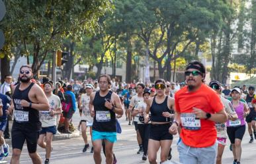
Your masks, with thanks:
[[[118,119],[124,116],[127,124],[134,126],[136,153],[142,154],[142,161],[156,164],[161,148],[158,161],[167,163],[177,134],[181,163],[220,164],[230,140],[234,164],[239,164],[246,123],[249,143],[256,140],[255,88],[229,89],[216,80],[206,84],[205,75],[204,65],[193,61],[185,68],[185,82],[179,83],[158,79],[153,84],[135,80],[127,84],[111,80],[107,74],[83,82],[67,78],[53,82],[47,77],[40,82],[32,78],[29,66],[22,66],[19,82],[12,83],[11,75],[6,75],[0,88],[0,160],[9,155],[5,139],[10,137],[12,117],[11,164],[19,163],[25,141],[32,163],[41,164],[44,158],[48,164],[54,134],[71,134],[77,111],[81,120],[75,126],[85,144],[81,151],[91,151],[96,164],[102,163],[101,150],[104,163],[118,163],[113,146],[116,133],[122,132]],[[45,157],[38,155],[37,145],[46,150]]]

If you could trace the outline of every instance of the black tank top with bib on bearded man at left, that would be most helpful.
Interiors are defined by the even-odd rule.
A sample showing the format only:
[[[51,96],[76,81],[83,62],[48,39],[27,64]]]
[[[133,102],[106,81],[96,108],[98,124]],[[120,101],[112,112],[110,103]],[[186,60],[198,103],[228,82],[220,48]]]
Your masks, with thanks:
[[[21,100],[24,99],[31,102],[28,98],[28,93],[33,85],[34,83],[31,83],[25,90],[19,90],[21,84],[18,84],[13,93],[13,104],[15,107],[13,127],[31,132],[41,129],[42,124],[39,119],[39,111],[31,107],[22,107]]]

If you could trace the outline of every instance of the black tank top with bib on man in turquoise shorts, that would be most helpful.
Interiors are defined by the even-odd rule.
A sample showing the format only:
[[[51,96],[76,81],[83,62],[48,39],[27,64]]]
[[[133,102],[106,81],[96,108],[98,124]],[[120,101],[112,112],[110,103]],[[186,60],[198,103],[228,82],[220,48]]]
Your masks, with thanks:
[[[112,92],[109,91],[105,97],[101,97],[99,91],[93,99],[95,117],[93,118],[93,130],[99,132],[116,132],[116,115],[105,107],[105,99],[110,101]]]

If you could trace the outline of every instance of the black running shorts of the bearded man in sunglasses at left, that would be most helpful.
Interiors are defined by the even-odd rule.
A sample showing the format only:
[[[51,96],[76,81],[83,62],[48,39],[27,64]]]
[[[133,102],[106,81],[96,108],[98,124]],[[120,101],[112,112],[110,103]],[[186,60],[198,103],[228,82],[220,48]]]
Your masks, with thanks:
[[[27,130],[21,130],[19,128],[13,127],[11,132],[11,144],[13,146],[13,149],[22,150],[24,142],[26,140],[28,153],[34,153],[36,152],[38,137],[39,132],[30,132]]]

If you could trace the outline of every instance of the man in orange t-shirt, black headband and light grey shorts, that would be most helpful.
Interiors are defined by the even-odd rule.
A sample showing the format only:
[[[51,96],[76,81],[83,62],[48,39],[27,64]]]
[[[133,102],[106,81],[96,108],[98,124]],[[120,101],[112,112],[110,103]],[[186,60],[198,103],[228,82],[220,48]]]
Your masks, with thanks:
[[[182,124],[181,142],[178,143],[181,163],[215,164],[215,123],[228,121],[220,97],[204,84],[205,74],[202,63],[189,63],[185,71],[187,86],[175,94],[175,121],[169,132],[177,134],[178,126]]]

